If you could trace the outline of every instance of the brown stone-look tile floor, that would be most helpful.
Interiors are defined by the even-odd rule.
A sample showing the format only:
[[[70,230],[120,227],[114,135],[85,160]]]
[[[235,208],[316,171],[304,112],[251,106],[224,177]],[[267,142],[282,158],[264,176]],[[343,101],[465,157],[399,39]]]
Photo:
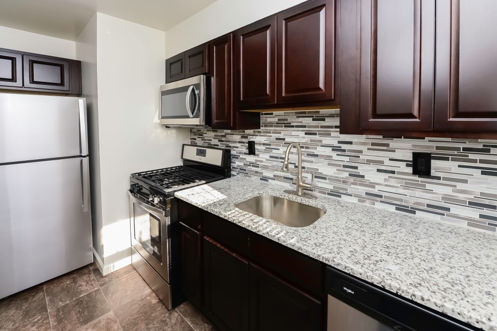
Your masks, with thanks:
[[[0,300],[1,331],[217,331],[189,302],[167,310],[128,265],[93,263]]]

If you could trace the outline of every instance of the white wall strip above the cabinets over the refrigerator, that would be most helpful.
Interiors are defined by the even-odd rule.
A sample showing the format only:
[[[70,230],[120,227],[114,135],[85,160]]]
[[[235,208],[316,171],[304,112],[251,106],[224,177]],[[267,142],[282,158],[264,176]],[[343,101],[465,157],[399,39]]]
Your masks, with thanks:
[[[0,26],[0,48],[76,59],[76,42]]]

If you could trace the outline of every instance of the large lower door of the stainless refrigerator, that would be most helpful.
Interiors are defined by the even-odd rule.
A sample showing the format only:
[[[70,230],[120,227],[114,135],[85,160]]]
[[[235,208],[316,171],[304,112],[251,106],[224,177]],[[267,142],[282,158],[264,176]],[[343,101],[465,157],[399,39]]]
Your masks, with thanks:
[[[0,166],[0,298],[93,261],[86,162]]]

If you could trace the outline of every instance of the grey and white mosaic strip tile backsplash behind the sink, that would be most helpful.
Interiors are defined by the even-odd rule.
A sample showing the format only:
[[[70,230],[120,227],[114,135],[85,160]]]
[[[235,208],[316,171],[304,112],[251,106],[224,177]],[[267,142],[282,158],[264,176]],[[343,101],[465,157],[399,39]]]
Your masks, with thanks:
[[[232,175],[295,188],[297,149],[281,172],[290,142],[302,147],[306,181],[317,194],[496,233],[497,140],[340,135],[339,110],[263,113],[261,129],[191,129],[192,144],[229,148]],[[255,141],[256,155],[247,142]],[[412,153],[432,155],[431,176],[412,174]]]

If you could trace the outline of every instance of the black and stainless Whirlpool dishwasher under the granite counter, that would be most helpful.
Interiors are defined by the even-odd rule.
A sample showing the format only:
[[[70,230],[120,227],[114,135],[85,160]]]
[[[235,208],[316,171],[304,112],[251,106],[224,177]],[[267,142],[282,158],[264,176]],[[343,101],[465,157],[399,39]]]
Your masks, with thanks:
[[[481,330],[328,267],[328,331]]]

